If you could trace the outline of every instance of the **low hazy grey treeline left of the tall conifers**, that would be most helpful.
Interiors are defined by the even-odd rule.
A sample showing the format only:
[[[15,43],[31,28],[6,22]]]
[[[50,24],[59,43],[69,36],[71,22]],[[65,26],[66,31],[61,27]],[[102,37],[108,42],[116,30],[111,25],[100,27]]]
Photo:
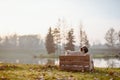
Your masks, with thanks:
[[[10,35],[0,37],[0,49],[44,49],[39,35]]]

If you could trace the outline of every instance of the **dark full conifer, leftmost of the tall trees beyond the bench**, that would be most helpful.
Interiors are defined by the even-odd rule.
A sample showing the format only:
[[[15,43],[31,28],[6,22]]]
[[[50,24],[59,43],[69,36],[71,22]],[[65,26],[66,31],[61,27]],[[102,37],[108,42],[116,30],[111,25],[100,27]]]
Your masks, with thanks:
[[[49,32],[46,36],[45,46],[48,54],[55,53],[55,43],[54,43],[51,27],[49,28]]]

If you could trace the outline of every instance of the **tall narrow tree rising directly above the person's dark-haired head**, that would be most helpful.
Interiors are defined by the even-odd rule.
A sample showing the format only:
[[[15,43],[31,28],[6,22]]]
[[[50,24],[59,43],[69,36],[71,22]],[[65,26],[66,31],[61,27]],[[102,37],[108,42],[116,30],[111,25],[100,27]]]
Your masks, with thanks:
[[[89,47],[90,44],[89,44],[87,34],[85,31],[83,31],[82,28],[83,28],[83,25],[81,24],[80,25],[80,47],[83,47],[84,45]]]

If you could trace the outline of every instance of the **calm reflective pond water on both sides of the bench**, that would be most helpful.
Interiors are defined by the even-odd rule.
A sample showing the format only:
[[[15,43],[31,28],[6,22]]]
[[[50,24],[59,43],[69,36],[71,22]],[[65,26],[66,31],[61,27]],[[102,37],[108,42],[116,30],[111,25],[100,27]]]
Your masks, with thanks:
[[[95,58],[93,59],[95,67],[117,67],[120,68],[120,59],[117,58]],[[58,58],[0,58],[3,63],[22,63],[22,64],[52,64],[59,65]]]

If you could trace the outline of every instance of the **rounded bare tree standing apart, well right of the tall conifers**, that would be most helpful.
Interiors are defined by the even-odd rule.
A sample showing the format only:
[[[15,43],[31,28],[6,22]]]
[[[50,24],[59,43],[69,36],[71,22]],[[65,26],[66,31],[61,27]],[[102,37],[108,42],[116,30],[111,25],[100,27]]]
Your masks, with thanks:
[[[106,45],[108,47],[115,47],[117,41],[117,33],[113,28],[110,28],[105,35]]]

